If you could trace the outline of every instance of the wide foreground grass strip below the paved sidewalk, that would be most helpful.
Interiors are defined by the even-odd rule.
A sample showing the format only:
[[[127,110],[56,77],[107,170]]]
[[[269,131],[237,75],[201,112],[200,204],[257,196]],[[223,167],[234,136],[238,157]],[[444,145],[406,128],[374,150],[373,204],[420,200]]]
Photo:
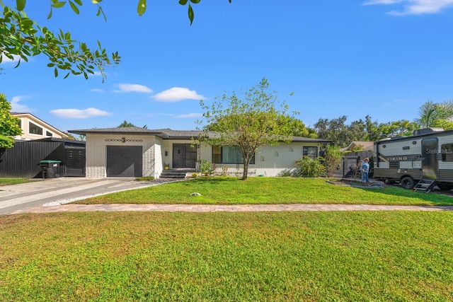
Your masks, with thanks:
[[[452,301],[451,212],[0,216],[0,301]]]

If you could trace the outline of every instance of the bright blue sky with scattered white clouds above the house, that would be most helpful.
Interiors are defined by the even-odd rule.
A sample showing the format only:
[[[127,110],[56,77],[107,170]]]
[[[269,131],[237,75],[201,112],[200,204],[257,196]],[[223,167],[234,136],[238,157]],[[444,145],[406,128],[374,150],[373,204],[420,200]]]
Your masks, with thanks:
[[[452,99],[453,0],[211,0],[193,6],[191,26],[177,0],[148,2],[139,17],[137,0],[105,0],[105,22],[91,1],[79,16],[68,6],[50,21],[47,1],[28,1],[25,11],[40,25],[88,46],[99,40],[122,62],[102,83],[55,79],[42,55],[17,69],[4,59],[0,93],[13,111],[62,131],[124,120],[195,129],[200,99],[210,103],[263,77],[307,126],[341,115],[348,124],[366,115],[412,121],[427,100]]]

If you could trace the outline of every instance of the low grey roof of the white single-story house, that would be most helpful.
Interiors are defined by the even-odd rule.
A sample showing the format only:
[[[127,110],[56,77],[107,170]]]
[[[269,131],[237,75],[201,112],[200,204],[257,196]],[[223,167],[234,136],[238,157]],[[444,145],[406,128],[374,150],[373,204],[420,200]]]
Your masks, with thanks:
[[[101,129],[80,129],[69,130],[74,134],[150,134],[161,137],[162,139],[192,139],[198,137],[202,131],[199,130],[172,130],[172,129],[144,129],[140,127],[120,127],[120,128],[101,128]],[[210,136],[215,136],[216,132],[209,132]],[[294,142],[316,142],[328,143],[328,139],[311,139],[309,137],[293,137]]]

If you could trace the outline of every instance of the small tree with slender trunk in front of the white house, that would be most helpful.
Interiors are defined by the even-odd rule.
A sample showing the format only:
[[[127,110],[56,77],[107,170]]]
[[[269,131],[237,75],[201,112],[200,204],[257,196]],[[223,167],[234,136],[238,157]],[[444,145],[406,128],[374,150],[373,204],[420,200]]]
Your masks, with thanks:
[[[224,94],[210,105],[200,101],[205,123],[197,121],[203,131],[198,139],[212,146],[238,146],[243,157],[243,180],[247,179],[248,164],[258,147],[292,141],[293,117],[288,115],[285,102],[277,102],[275,92],[268,88],[268,80],[263,79],[239,95]],[[210,136],[210,130],[217,136]]]

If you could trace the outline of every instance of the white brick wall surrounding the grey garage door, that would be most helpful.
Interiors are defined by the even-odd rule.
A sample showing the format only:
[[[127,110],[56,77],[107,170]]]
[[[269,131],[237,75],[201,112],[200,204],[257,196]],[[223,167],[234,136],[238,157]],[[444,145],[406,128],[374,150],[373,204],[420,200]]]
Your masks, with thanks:
[[[125,138],[125,142],[122,142]],[[155,176],[159,148],[156,137],[133,134],[87,134],[86,135],[86,177],[105,178],[107,175],[107,146],[142,146],[142,175]]]

